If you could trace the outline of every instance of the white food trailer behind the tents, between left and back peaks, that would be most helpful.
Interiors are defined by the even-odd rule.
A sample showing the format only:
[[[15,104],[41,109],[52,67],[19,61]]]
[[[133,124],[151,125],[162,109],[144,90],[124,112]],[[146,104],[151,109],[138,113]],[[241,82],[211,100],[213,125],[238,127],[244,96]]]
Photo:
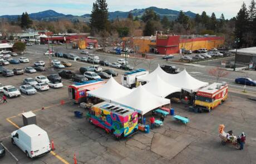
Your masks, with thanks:
[[[122,86],[125,86],[127,88],[137,87],[137,77],[146,76],[147,74],[149,74],[149,71],[141,68],[134,71],[126,72],[125,74],[121,75]]]

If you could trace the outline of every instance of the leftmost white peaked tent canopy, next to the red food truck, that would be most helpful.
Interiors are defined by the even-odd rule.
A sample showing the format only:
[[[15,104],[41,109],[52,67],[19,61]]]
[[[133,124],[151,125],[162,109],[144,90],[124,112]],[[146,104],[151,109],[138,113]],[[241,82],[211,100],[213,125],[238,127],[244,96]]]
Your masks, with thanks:
[[[126,96],[131,92],[132,90],[120,85],[118,82],[115,81],[113,77],[111,77],[105,85],[98,88],[97,90],[88,91],[87,93],[91,96],[111,102],[113,99]]]

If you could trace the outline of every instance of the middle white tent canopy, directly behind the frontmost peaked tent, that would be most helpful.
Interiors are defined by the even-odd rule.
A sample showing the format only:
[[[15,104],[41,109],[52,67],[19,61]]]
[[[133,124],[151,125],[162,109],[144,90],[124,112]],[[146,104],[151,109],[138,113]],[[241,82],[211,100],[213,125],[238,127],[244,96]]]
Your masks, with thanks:
[[[158,75],[152,79],[149,83],[143,86],[148,92],[152,93],[155,96],[166,97],[171,93],[181,92],[180,87],[175,87],[166,83]]]

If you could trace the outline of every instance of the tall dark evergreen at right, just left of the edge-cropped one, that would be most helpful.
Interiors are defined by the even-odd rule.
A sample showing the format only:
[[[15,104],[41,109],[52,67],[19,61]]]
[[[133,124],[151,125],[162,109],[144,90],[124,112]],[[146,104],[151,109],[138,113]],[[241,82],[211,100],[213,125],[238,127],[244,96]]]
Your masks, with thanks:
[[[247,44],[245,36],[248,31],[248,22],[249,22],[249,14],[246,8],[245,3],[243,3],[242,8],[237,14],[235,21],[235,36],[240,39],[238,43],[238,47],[241,47]]]

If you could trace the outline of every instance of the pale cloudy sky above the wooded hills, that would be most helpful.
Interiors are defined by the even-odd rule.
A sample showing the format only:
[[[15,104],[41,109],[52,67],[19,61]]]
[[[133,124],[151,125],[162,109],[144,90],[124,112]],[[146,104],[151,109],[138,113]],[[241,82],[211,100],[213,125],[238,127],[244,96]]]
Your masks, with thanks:
[[[92,3],[96,0],[0,0],[0,16],[22,14],[22,12],[36,13],[53,9],[58,13],[81,16],[91,13]],[[156,3],[157,2],[157,3]],[[205,11],[209,16],[212,12],[219,18],[223,13],[225,18],[235,17],[245,2],[247,7],[250,0],[107,0],[109,12],[130,11],[151,6],[174,10],[199,13]]]

